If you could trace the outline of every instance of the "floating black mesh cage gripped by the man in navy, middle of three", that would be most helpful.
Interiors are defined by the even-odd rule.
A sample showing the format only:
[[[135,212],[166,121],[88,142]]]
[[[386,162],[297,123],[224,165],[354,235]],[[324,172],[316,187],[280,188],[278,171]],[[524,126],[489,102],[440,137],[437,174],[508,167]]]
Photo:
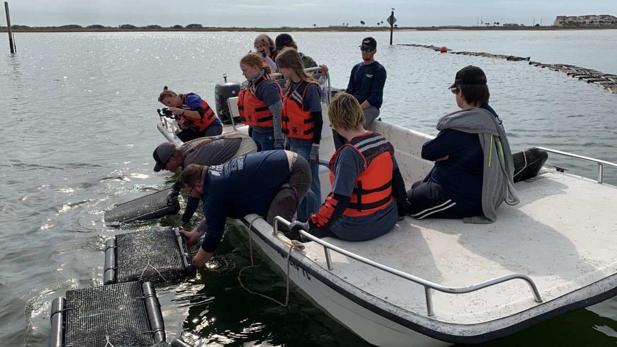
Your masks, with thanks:
[[[103,284],[167,282],[195,274],[178,228],[155,227],[107,240]]]

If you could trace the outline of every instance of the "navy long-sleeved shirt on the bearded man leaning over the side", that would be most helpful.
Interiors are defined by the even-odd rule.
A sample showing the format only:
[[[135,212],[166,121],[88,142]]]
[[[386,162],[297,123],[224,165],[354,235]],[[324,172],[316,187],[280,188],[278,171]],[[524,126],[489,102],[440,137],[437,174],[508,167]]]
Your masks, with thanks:
[[[213,253],[223,237],[227,217],[267,212],[281,185],[289,182],[285,151],[246,154],[208,168],[204,178],[206,230],[201,248]]]

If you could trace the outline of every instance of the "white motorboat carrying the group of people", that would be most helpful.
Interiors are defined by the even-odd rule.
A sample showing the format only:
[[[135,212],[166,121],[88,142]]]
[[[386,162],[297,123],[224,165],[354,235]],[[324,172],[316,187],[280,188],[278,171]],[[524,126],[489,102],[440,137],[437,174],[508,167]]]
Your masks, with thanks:
[[[237,112],[233,99],[229,106]],[[324,119],[322,159],[334,149]],[[158,127],[181,144],[172,120],[161,117]],[[431,136],[381,120],[371,128],[394,144],[407,186],[433,167],[420,157]],[[594,162],[597,180],[544,167],[515,184],[520,203],[502,204],[494,224],[407,217],[364,242],[304,233],[313,242],[291,250],[291,281],[352,332],[387,347],[481,343],[617,295],[617,187],[602,182],[603,168],[617,164],[542,149]],[[286,272],[288,240],[273,231],[288,221],[272,227],[247,215],[238,223]]]

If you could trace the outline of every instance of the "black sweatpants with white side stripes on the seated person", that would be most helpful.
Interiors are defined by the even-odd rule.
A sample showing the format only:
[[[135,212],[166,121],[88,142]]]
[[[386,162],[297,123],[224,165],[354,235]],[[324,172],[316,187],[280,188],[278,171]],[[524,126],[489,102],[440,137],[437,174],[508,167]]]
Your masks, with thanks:
[[[407,191],[407,201],[411,205],[407,214],[415,219],[426,217],[460,219],[482,214],[482,211],[470,211],[447,198],[437,186],[431,183],[431,180],[413,183],[412,189]]]

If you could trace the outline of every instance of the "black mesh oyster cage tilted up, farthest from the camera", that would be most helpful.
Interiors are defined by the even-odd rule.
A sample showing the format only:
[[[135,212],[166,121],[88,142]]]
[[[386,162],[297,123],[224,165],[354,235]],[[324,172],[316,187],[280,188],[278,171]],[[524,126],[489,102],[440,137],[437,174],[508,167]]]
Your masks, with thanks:
[[[167,195],[173,188],[155,191],[141,198],[118,204],[105,211],[103,219],[107,223],[128,223],[136,220],[149,220],[176,214],[180,211],[178,199],[174,199],[171,206],[167,204]]]

